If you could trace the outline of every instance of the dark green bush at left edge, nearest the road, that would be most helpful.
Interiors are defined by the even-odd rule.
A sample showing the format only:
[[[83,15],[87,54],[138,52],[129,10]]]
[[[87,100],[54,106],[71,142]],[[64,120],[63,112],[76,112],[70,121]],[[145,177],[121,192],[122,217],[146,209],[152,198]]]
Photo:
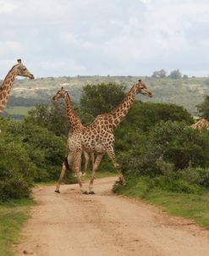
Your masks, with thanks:
[[[0,136],[0,201],[30,196],[35,164],[31,163],[23,145],[8,142]]]

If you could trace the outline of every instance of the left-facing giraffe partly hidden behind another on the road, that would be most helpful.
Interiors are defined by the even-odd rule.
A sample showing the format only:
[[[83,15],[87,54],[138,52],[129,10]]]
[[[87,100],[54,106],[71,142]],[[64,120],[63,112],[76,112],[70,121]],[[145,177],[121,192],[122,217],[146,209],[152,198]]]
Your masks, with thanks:
[[[69,145],[74,143],[74,135],[80,131],[83,131],[84,125],[82,125],[80,118],[74,113],[74,110],[72,109],[71,106],[71,100],[69,97],[69,93],[67,90],[64,90],[63,87],[61,90],[59,90],[54,97],[52,97],[53,100],[57,100],[58,98],[64,98],[65,100],[65,105],[66,105],[66,110],[68,114],[68,120],[69,120],[69,125],[71,126],[71,130],[69,132],[69,138],[68,138],[68,148],[69,148],[69,155],[67,158],[64,159],[63,164],[62,164],[62,169],[61,169],[61,174],[58,178],[58,182],[56,185],[56,190],[55,192],[59,192],[59,187],[60,187],[60,182],[63,180],[63,176],[66,172],[67,169],[69,169],[69,165],[73,163],[73,153],[74,151],[70,151],[72,147],[69,147]],[[87,168],[88,168],[88,162],[89,162],[89,153],[84,151],[84,156],[85,156],[85,171],[83,175],[87,175]],[[92,162],[92,168],[93,168],[93,163],[94,163],[94,153],[91,153],[91,162]],[[82,175],[81,172],[75,173],[76,176]]]

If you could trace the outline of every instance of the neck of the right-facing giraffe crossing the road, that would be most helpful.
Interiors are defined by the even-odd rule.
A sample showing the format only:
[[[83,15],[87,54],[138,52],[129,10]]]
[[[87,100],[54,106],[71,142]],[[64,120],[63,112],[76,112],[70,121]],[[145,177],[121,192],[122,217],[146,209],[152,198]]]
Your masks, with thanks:
[[[108,122],[113,125],[113,128],[116,128],[118,124],[124,119],[126,114],[128,114],[129,109],[132,107],[135,95],[137,94],[135,86],[133,86],[130,91],[127,93],[126,97],[122,103],[118,105],[108,114]]]

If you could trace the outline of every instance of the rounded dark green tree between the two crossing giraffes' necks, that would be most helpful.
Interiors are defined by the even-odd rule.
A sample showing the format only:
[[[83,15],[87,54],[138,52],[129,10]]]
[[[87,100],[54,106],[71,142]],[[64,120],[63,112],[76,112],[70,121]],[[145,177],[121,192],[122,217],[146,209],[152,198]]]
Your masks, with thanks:
[[[87,85],[80,97],[80,107],[83,111],[97,116],[114,109],[125,96],[125,86],[114,83]]]

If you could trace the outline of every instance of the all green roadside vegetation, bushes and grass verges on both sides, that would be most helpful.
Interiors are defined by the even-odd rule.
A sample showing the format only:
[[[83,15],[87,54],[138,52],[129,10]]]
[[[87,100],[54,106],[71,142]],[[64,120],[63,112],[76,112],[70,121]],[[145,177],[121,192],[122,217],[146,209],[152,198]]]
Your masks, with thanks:
[[[89,125],[97,114],[115,108],[125,92],[124,86],[114,83],[87,85],[74,111]],[[204,103],[199,105],[200,114],[207,117]],[[127,179],[127,185],[117,183],[114,192],[157,203],[170,214],[208,226],[209,131],[190,128],[194,122],[191,114],[176,104],[136,99],[114,133],[115,152]],[[3,255],[12,255],[8,248],[18,241],[15,234],[28,218],[31,188],[37,182],[55,183],[58,179],[67,154],[69,124],[64,104],[49,102],[30,109],[25,120],[0,118],[0,127],[0,218],[5,222],[0,225],[0,255],[7,250]],[[89,175],[90,170],[91,164]],[[115,175],[107,157],[98,174]],[[71,171],[64,181],[74,182]],[[9,229],[11,223],[15,229]],[[7,238],[8,231],[14,235]]]

